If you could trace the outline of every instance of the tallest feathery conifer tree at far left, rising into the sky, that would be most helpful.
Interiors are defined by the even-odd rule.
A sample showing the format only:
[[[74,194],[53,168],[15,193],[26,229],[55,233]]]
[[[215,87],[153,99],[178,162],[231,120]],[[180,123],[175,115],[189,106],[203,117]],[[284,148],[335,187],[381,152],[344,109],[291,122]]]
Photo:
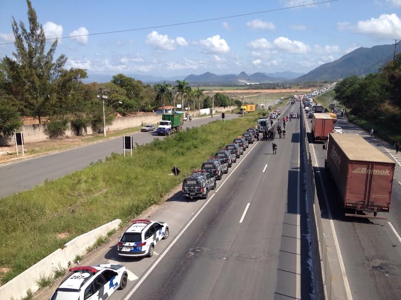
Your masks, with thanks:
[[[27,0],[27,6],[29,28],[22,21],[18,26],[17,21],[12,18],[15,52],[13,58],[5,56],[2,59],[0,68],[5,76],[7,94],[14,97],[18,107],[27,115],[34,116],[41,123],[42,116],[57,101],[57,83],[68,72],[64,69],[67,57],[62,54],[53,60],[57,39],[45,52],[46,37],[43,28],[38,23],[30,0]],[[79,78],[84,76],[86,73],[82,72]]]

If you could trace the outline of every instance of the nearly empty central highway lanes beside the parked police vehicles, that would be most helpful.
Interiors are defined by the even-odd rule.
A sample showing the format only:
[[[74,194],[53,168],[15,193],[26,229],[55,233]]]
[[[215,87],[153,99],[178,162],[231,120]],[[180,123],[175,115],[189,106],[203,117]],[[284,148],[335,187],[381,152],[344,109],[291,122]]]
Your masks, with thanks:
[[[185,200],[177,189],[160,207],[144,212],[141,218],[170,228],[154,257],[120,258],[115,236],[82,264],[120,262],[128,268],[127,288],[111,300],[309,299],[308,249],[301,249],[308,242],[299,120],[288,122],[286,131],[286,139],[275,139],[277,155],[271,141],[251,144],[207,200]]]

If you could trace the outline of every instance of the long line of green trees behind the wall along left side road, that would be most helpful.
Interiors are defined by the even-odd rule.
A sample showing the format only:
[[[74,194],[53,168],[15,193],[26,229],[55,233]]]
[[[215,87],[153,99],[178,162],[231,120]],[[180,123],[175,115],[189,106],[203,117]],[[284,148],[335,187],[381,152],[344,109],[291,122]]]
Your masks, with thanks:
[[[69,124],[81,134],[91,126],[101,132],[103,127],[102,96],[105,97],[106,125],[116,114],[152,111],[181,103],[191,109],[209,108],[212,99],[200,88],[191,88],[185,80],[169,83],[144,84],[123,74],[107,83],[83,83],[87,72],[81,68],[66,68],[67,57],[55,57],[58,40],[46,43],[42,25],[35,9],[27,0],[26,26],[12,17],[15,37],[12,57],[0,60],[0,135],[9,137],[22,125],[21,117],[33,117],[45,123],[51,137],[63,135]],[[47,46],[49,49],[46,50]],[[228,106],[228,96],[214,95],[215,106]],[[237,100],[238,104],[239,100]]]

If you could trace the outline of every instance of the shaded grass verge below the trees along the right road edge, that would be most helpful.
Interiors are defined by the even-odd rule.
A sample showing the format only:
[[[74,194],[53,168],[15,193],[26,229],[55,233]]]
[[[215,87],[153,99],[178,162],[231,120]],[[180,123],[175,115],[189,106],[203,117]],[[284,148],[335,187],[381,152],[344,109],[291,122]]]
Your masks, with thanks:
[[[400,128],[398,126],[389,126],[378,122],[367,121],[354,115],[348,115],[347,117],[349,122],[361,127],[367,132],[370,132],[373,128],[376,136],[389,142],[391,145],[394,145],[396,141],[401,140]]]

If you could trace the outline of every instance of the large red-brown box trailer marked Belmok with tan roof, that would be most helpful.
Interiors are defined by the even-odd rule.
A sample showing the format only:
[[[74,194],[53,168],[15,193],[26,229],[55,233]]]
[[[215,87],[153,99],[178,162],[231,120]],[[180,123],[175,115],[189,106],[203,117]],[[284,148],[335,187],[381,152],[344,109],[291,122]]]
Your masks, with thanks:
[[[346,216],[389,212],[396,164],[358,134],[330,133],[324,166],[334,181]],[[347,213],[350,212],[350,213]],[[362,215],[371,212],[373,216]]]

